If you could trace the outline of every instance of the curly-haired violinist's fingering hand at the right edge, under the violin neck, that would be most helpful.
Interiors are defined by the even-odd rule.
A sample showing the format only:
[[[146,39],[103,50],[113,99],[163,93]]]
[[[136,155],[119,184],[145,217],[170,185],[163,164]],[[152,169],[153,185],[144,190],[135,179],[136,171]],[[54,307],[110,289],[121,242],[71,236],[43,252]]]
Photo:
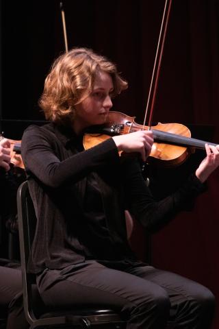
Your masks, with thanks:
[[[205,144],[206,158],[199,164],[196,176],[201,182],[205,182],[209,175],[219,166],[219,145]]]

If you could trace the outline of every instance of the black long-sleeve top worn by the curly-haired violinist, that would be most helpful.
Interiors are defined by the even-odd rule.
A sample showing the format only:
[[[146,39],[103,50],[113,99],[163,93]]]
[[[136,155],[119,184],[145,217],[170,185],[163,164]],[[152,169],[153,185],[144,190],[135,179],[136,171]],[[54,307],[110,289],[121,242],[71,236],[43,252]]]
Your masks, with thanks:
[[[203,189],[192,175],[157,202],[138,159],[118,156],[112,138],[83,151],[70,128],[30,126],[22,139],[29,190],[38,224],[29,270],[60,269],[86,259],[136,259],[127,241],[125,209],[157,230]]]

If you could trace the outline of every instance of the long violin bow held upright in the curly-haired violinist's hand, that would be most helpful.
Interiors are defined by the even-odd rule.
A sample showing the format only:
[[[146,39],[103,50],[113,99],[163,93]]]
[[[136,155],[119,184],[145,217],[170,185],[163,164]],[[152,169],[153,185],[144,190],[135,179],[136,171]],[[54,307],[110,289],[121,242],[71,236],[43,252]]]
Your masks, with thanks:
[[[153,117],[153,109],[155,106],[155,98],[157,94],[157,84],[158,84],[158,78],[159,78],[159,71],[161,67],[162,62],[162,56],[164,51],[164,42],[166,38],[166,30],[168,26],[169,16],[170,16],[170,8],[171,8],[172,0],[166,0],[165,6],[164,6],[164,13],[162,18],[162,25],[159,31],[159,39],[157,42],[157,51],[155,56],[155,62],[153,66],[153,73],[151,77],[151,84],[149,89],[149,97],[146,104],[146,111],[144,115],[144,123],[143,126],[146,125],[146,118],[148,116],[149,108],[150,108],[150,115],[149,115],[149,130],[151,129],[152,124],[152,117]]]

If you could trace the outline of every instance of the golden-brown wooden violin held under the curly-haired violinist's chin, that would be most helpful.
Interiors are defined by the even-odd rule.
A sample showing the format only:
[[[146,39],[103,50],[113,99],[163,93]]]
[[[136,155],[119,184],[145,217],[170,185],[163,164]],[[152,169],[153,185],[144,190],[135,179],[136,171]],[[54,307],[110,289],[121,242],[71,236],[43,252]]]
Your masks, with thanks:
[[[105,125],[91,127],[84,134],[84,149],[90,149],[111,136],[149,130],[148,126],[140,125],[134,119],[135,117],[129,117],[127,114],[110,111]],[[205,149],[205,143],[217,145],[192,138],[188,127],[181,123],[158,123],[150,127],[150,130],[153,132],[154,143],[149,161],[155,160],[158,165],[164,167],[182,164],[195,149]]]

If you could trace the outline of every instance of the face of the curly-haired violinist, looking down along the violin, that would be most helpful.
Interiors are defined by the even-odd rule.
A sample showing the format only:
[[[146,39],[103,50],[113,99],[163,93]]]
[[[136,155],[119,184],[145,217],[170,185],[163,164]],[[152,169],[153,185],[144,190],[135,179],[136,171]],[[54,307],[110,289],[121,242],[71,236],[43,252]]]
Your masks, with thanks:
[[[75,106],[73,127],[76,133],[91,125],[105,123],[112,108],[111,94],[114,89],[112,77],[103,71],[96,75],[92,93]]]

